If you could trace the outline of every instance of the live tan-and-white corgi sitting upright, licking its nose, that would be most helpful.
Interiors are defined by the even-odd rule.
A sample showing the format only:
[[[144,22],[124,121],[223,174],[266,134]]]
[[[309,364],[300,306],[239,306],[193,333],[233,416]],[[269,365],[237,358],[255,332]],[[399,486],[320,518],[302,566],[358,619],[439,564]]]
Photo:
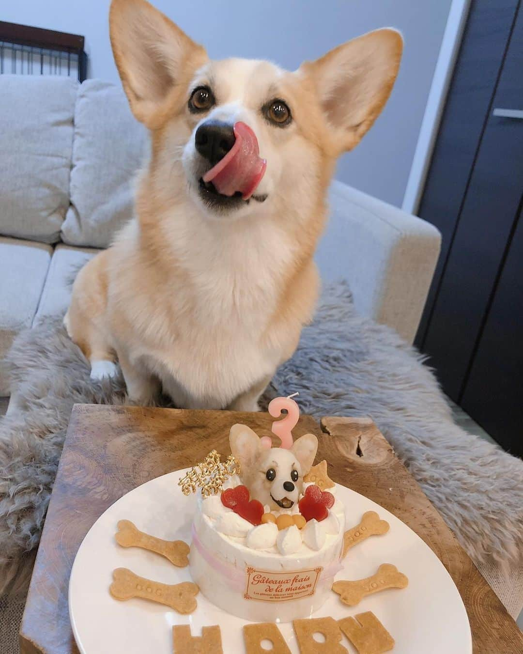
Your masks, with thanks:
[[[129,399],[258,410],[318,294],[313,262],[337,156],[386,103],[403,42],[348,41],[297,71],[211,61],[145,0],[113,0],[110,38],[150,131],[135,218],[76,277],[65,327],[93,379]]]

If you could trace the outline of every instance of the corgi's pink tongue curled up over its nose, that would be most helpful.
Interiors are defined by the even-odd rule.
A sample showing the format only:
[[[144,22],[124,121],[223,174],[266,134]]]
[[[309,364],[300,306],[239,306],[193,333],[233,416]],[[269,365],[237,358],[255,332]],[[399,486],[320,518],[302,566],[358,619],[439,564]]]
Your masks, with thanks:
[[[212,182],[218,193],[233,196],[237,191],[249,199],[256,190],[267,167],[260,158],[256,134],[243,122],[235,123],[236,140],[229,152],[203,175],[204,182]]]

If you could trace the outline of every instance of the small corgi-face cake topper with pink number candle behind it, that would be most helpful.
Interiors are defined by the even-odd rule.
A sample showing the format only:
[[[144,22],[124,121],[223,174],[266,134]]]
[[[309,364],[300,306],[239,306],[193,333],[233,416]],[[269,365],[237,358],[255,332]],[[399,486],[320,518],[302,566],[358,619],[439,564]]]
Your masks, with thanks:
[[[298,421],[299,408],[291,398],[275,398],[269,404],[273,417],[286,409],[288,415],[273,422],[273,433],[279,436],[280,447],[271,447],[271,439],[260,438],[245,424],[233,424],[229,442],[233,455],[241,464],[241,481],[250,497],[267,504],[272,511],[292,509],[303,490],[303,477],[311,470],[318,439],[305,434],[293,441],[292,428]]]

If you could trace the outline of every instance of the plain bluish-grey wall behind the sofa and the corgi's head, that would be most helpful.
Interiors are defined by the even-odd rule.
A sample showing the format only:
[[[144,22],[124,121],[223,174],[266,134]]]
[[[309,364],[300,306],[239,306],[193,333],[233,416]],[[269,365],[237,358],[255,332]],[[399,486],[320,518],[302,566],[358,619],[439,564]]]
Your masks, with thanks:
[[[393,26],[405,54],[392,97],[337,177],[401,205],[450,0],[153,0],[212,58],[267,58],[289,69],[370,29]],[[109,44],[109,0],[19,0],[0,18],[86,37],[89,77],[118,81]]]

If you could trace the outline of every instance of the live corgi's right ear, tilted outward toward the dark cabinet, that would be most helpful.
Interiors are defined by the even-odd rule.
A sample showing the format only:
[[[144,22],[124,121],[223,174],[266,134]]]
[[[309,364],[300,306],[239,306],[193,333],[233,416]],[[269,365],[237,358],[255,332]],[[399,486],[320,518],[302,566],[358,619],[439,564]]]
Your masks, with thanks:
[[[302,64],[314,80],[338,154],[358,145],[379,116],[402,52],[403,38],[396,29],[377,29]]]

